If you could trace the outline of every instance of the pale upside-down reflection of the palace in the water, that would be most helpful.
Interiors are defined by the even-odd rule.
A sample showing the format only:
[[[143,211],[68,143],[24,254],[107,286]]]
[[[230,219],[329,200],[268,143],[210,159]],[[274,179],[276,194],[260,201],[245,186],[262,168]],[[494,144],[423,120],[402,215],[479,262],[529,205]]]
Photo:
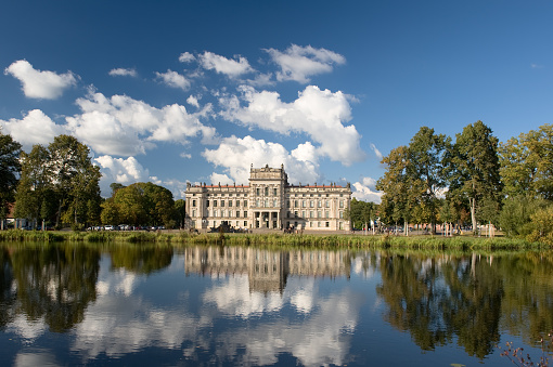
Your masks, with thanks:
[[[269,251],[252,247],[196,247],[185,249],[187,274],[210,276],[247,274],[250,292],[280,292],[288,275],[347,277],[351,259],[347,251]]]

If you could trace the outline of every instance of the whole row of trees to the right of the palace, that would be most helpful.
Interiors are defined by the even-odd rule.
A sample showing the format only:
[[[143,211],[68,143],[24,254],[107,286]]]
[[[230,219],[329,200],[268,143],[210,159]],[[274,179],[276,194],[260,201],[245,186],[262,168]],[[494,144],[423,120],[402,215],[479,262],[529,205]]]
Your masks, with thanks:
[[[351,201],[355,225],[493,224],[507,236],[553,244],[553,126],[500,143],[481,121],[450,136],[422,127],[382,159],[382,202]]]

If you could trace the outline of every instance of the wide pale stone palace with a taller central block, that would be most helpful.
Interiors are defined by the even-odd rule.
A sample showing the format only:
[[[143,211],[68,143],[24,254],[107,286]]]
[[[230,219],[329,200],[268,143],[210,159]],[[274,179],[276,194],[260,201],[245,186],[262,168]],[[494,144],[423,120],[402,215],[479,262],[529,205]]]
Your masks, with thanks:
[[[249,185],[187,185],[187,226],[349,231],[351,188],[290,185],[281,168],[250,168]]]

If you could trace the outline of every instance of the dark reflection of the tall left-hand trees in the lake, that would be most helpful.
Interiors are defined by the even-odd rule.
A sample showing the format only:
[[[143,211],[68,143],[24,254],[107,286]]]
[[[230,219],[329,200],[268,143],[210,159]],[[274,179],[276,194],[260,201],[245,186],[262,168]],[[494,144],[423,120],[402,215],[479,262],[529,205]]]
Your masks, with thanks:
[[[16,312],[30,320],[43,317],[52,331],[70,329],[95,300],[99,260],[97,249],[83,246],[44,245],[14,251]]]

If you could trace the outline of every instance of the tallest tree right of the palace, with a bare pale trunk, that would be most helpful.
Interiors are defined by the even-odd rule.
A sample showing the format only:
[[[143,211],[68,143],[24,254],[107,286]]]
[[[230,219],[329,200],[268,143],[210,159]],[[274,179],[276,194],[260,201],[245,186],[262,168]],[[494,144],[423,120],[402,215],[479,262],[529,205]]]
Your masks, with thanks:
[[[480,208],[501,202],[498,144],[491,129],[476,121],[456,134],[455,144],[448,153],[450,191],[468,201],[473,231],[478,220],[484,219]]]

